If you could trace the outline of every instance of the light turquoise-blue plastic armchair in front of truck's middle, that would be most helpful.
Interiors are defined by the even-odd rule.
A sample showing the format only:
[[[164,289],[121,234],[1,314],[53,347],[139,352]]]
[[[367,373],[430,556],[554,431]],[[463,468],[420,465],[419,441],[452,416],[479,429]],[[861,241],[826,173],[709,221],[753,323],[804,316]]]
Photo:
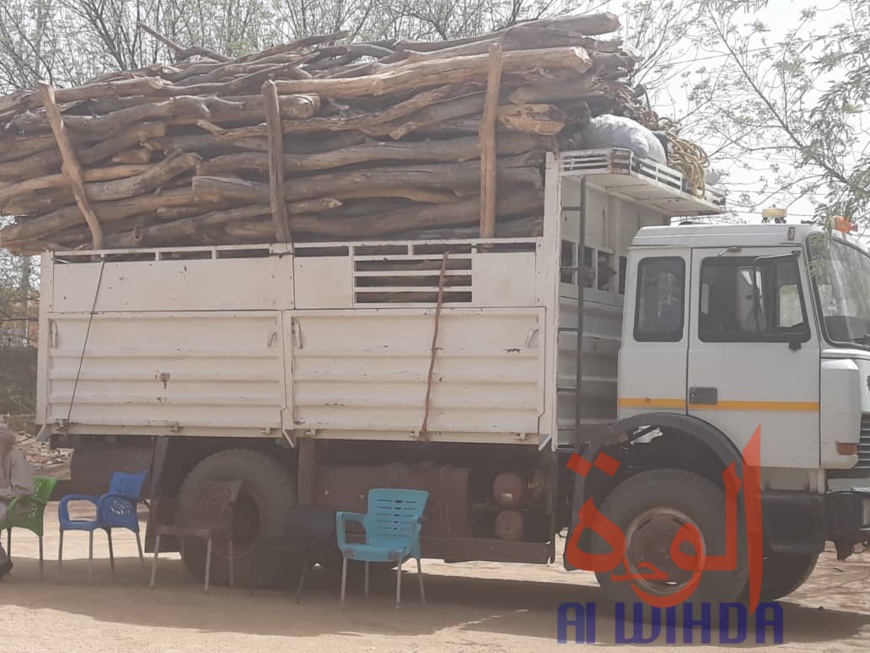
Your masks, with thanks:
[[[426,604],[423,592],[423,569],[420,565],[420,530],[423,511],[429,493],[424,490],[375,489],[369,492],[368,511],[338,512],[335,515],[338,548],[344,558],[341,569],[341,607],[344,607],[347,586],[347,561],[366,563],[365,595],[369,595],[369,563],[398,563],[396,569],[396,610],[402,596],[402,563],[417,561],[417,579],[420,583],[420,602]],[[365,542],[348,543],[346,527],[349,522],[362,524]]]

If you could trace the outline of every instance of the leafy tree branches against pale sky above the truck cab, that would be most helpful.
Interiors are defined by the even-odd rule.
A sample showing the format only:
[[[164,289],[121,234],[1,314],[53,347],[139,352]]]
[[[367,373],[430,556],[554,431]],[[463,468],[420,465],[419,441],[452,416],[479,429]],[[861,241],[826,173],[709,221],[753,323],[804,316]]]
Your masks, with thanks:
[[[688,38],[715,64],[685,76],[685,124],[714,144],[712,155],[756,175],[738,194],[745,208],[809,200],[817,220],[843,214],[866,223],[870,2],[839,2],[849,20],[827,28],[816,9],[800,10],[775,39],[752,13],[767,4],[699,3],[701,27]]]

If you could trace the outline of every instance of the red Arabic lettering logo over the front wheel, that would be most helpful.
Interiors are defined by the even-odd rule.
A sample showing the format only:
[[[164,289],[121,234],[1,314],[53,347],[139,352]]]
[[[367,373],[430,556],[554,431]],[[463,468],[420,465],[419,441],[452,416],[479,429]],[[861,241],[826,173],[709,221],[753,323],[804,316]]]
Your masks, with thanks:
[[[722,481],[725,486],[725,553],[724,555],[704,555],[703,538],[697,526],[684,524],[675,535],[670,547],[670,556],[674,564],[683,571],[691,572],[692,576],[685,586],[667,596],[650,594],[639,588],[637,580],[667,580],[668,575],[649,562],[641,562],[637,569],[646,573],[626,573],[615,575],[613,571],[624,564],[630,571],[626,555],[625,534],[622,530],[601,514],[588,499],[577,512],[577,525],[571,532],[571,537],[565,547],[565,557],[575,569],[586,569],[599,574],[610,574],[614,582],[628,582],[634,593],[647,604],[657,608],[669,608],[689,599],[701,582],[705,571],[731,571],[737,569],[737,497],[740,486],[743,485],[743,505],[746,518],[746,539],[749,567],[749,612],[755,608],[761,598],[761,564],[763,557],[761,532],[761,478],[759,473],[761,459],[761,425],[743,449],[743,479],[737,475],[736,463],[732,462],[722,471]],[[601,452],[590,463],[579,454],[573,454],[568,460],[568,468],[582,477],[596,468],[608,476],[613,476],[619,469],[619,461]],[[579,548],[580,536],[585,529],[590,529],[605,542],[611,551],[609,553],[587,553]],[[682,546],[688,544],[694,551],[687,554]]]

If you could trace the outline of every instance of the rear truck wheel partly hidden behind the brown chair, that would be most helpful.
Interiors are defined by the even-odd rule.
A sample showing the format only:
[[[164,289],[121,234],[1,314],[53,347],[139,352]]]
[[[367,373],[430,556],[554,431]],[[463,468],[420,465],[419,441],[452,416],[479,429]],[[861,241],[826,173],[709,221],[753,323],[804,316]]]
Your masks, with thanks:
[[[230,449],[201,460],[184,479],[178,493],[182,507],[190,506],[200,484],[209,481],[242,480],[233,519],[234,580],[237,586],[265,585],[267,579],[285,582],[294,567],[274,551],[259,546],[261,537],[280,536],[287,513],[296,505],[294,475],[272,456],[248,449]],[[229,584],[229,547],[212,544],[211,581]],[[200,580],[205,577],[206,542],[189,539],[184,563]]]

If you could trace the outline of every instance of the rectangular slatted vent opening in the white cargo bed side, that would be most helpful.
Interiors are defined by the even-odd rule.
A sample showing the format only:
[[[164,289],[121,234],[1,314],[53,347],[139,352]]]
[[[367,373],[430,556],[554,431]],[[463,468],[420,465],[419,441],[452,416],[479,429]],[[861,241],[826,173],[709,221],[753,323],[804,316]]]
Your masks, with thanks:
[[[441,256],[402,256],[354,260],[354,299],[361,304],[435,304]],[[471,257],[449,257],[444,272],[444,304],[471,302]]]

